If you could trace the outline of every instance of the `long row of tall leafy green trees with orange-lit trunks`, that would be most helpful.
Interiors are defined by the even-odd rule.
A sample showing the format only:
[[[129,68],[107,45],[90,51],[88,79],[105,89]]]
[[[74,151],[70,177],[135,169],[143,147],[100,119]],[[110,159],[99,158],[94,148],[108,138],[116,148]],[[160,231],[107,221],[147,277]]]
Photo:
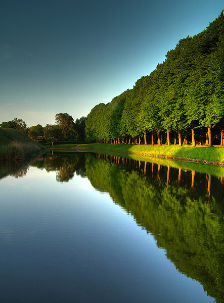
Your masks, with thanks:
[[[178,42],[149,75],[88,114],[86,139],[224,145],[224,16]]]

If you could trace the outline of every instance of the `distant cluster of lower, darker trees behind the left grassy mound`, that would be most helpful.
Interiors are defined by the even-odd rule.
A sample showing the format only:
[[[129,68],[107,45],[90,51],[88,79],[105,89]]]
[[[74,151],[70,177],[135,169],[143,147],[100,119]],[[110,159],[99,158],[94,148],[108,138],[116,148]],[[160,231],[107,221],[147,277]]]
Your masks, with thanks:
[[[22,119],[15,118],[12,121],[2,122],[0,127],[14,128],[27,134],[30,138],[35,139],[38,136],[44,137],[45,140],[85,140],[85,120],[86,117],[74,119],[67,113],[59,113],[55,116],[55,124],[40,124],[27,127],[26,122]]]

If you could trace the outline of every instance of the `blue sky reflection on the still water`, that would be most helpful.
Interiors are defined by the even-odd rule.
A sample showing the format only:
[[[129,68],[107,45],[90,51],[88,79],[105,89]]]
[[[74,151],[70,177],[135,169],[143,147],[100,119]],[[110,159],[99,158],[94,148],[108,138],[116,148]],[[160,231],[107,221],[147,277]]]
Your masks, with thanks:
[[[59,183],[30,167],[0,190],[4,303],[213,301],[87,178]]]

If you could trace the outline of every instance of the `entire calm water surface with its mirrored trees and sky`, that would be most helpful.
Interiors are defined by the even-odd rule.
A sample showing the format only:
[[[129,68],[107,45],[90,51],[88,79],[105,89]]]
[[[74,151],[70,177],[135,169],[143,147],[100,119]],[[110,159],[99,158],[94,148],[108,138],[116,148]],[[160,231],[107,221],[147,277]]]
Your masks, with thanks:
[[[0,164],[1,303],[224,302],[224,168],[139,159]]]

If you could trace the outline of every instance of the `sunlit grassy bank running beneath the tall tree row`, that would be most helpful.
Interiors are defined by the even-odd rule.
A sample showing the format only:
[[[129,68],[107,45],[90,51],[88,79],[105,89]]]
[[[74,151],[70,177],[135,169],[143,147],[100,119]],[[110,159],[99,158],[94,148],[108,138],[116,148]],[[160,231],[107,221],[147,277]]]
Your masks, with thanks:
[[[55,148],[75,148],[75,144],[59,144]],[[53,147],[54,148],[54,147]],[[224,148],[208,146],[176,146],[176,145],[128,145],[128,144],[80,144],[81,149],[97,149],[119,151],[142,156],[201,162],[216,165],[224,165]]]

